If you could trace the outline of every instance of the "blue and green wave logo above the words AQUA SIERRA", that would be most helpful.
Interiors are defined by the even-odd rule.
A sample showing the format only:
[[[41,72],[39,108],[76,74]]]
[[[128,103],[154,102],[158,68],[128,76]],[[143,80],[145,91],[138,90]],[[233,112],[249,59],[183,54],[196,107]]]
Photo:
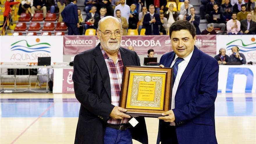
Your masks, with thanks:
[[[20,45],[19,43],[25,41],[26,45]],[[40,42],[40,39],[37,38],[36,42]],[[35,45],[29,45],[29,43],[26,40],[20,40],[17,42],[14,42],[13,44],[11,44],[11,51],[23,51],[26,53],[31,53],[31,52],[35,52],[35,51],[43,51],[43,52],[48,52],[50,53],[49,48],[51,48],[51,45],[47,42],[42,42],[39,44],[35,44]]]

